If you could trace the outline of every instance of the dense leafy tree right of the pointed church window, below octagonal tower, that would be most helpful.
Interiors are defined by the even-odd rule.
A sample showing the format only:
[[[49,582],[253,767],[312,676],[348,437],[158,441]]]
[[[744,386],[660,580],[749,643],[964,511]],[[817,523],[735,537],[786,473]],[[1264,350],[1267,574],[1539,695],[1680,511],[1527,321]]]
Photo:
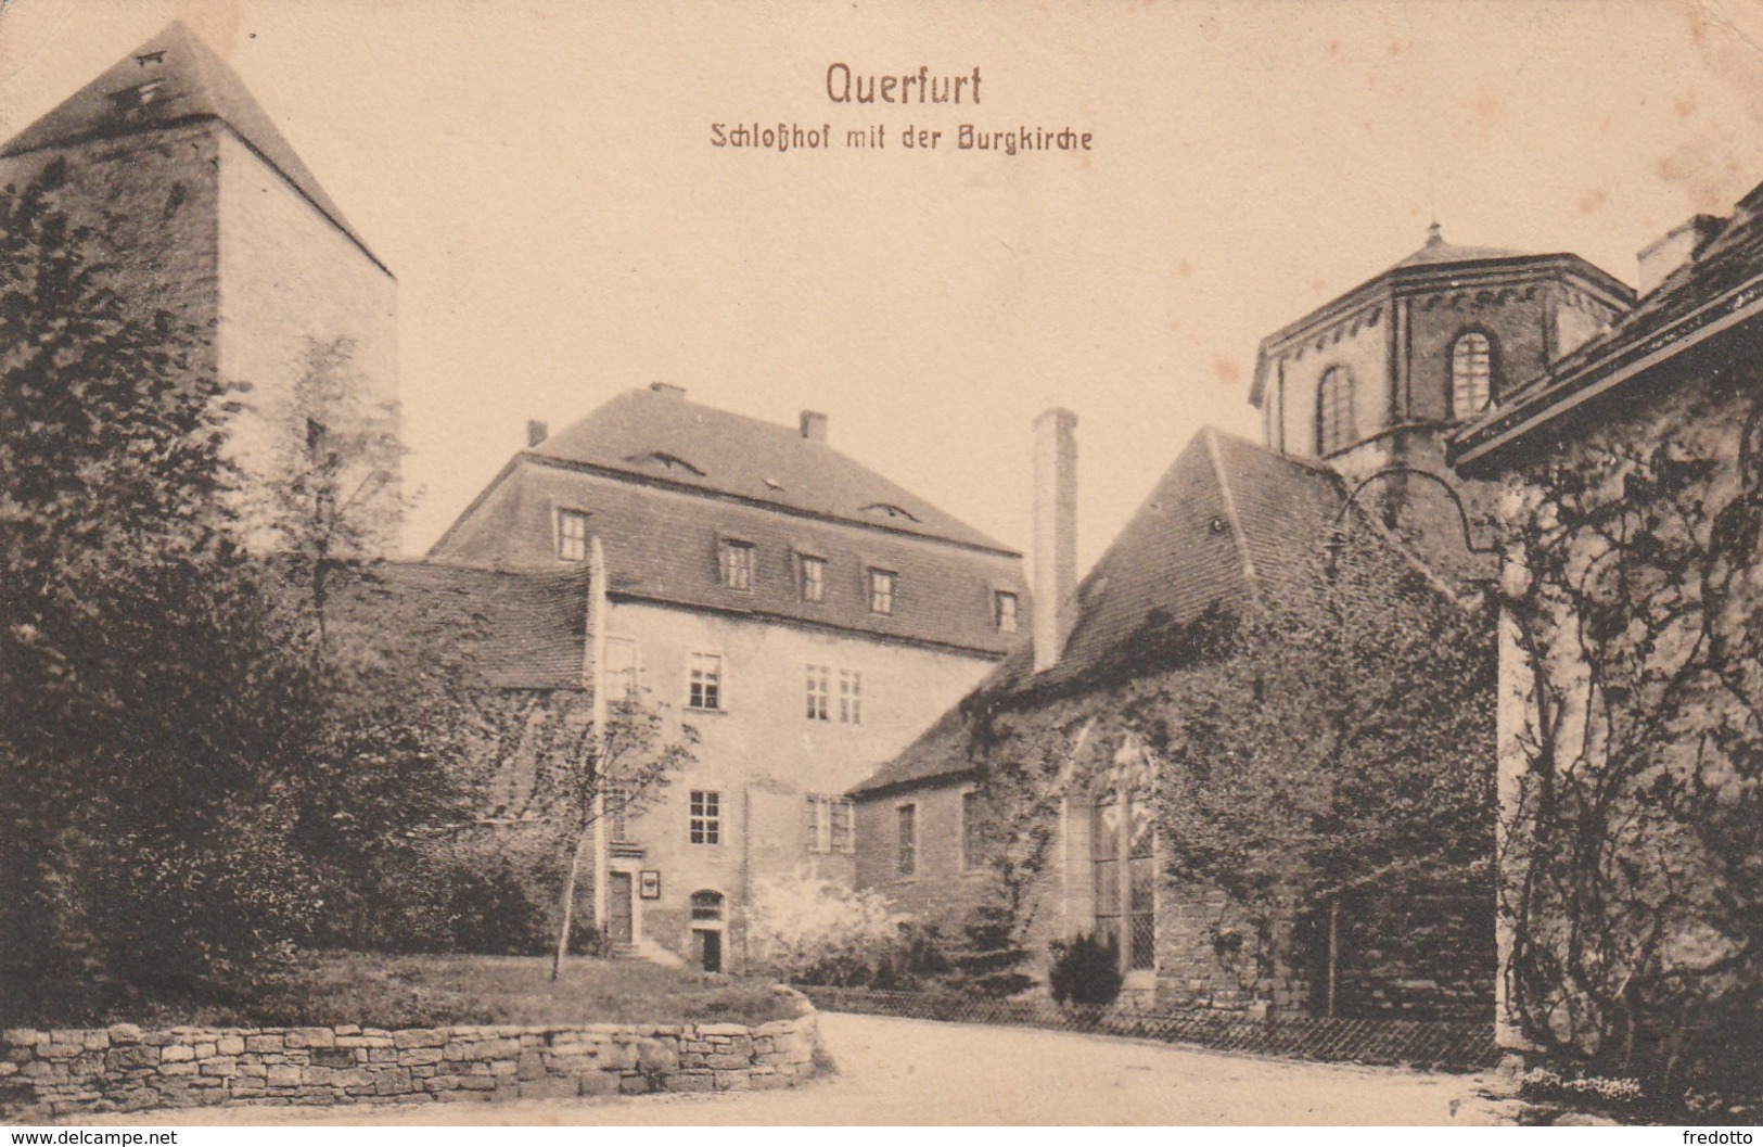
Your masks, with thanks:
[[[1127,727],[1165,762],[1169,872],[1250,905],[1257,941],[1372,893],[1449,893],[1491,919],[1491,611],[1370,522],[1299,563],[1229,655],[1135,685]],[[1484,900],[1484,905],[1476,905]],[[1488,933],[1491,963],[1491,928]],[[1273,953],[1264,953],[1264,958]],[[1333,992],[1335,960],[1317,960]]]

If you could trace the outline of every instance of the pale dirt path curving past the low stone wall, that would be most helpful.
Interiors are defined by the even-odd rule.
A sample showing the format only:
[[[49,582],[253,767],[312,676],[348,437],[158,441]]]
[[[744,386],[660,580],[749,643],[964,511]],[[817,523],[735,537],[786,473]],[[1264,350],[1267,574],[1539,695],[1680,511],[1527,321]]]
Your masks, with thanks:
[[[1305,1064],[1019,1027],[822,1013],[839,1075],[797,1091],[106,1117],[307,1124],[1430,1124],[1497,1122],[1488,1080]]]

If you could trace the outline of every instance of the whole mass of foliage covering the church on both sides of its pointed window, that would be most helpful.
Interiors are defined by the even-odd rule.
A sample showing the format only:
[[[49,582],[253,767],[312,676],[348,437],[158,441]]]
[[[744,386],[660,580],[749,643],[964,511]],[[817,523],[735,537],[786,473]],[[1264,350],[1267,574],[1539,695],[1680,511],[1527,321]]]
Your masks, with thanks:
[[[1350,526],[1255,605],[1153,614],[1077,685],[964,704],[1015,944],[1044,903],[1061,803],[1112,798],[1153,812],[1176,895],[1222,905],[1213,948],[1245,990],[1294,955],[1294,926],[1368,896],[1458,898],[1488,925],[1491,967],[1491,611],[1370,521]]]

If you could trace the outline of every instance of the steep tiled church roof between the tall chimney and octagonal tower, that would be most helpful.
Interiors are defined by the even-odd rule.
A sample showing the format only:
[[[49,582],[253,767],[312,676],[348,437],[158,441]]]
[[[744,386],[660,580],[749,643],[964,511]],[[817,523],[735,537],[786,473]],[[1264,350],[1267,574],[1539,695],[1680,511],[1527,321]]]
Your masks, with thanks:
[[[1333,471],[1202,429],[1079,584],[1060,662],[1035,674],[1031,651],[1017,649],[853,792],[970,769],[961,709],[971,704],[1169,669],[1183,626],[1291,584],[1322,552],[1343,498]]]

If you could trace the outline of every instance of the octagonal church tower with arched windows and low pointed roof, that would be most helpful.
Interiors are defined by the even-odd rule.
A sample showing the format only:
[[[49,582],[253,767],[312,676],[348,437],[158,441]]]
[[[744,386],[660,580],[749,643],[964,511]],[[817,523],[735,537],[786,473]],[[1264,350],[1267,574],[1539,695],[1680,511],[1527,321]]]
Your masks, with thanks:
[[[1358,505],[1410,542],[1460,544],[1444,487],[1470,512],[1476,492],[1446,466],[1446,436],[1633,305],[1580,256],[1458,247],[1433,224],[1419,251],[1262,339],[1250,402],[1269,448],[1363,484]]]

